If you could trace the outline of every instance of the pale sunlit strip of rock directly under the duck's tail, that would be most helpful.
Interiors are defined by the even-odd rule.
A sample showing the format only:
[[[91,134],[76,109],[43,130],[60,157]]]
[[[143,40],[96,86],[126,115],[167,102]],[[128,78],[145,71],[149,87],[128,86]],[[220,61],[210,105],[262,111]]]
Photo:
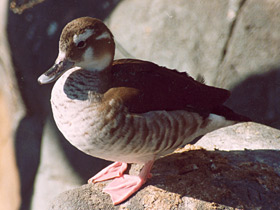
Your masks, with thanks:
[[[196,145],[207,150],[280,150],[279,132],[257,123],[239,123],[207,134]]]

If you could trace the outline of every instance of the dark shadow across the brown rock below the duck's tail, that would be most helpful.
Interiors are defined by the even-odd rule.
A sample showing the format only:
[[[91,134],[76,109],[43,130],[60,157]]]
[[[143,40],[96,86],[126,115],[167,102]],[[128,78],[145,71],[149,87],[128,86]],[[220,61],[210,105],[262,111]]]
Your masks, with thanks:
[[[148,185],[234,208],[277,207],[280,151],[193,150],[158,160]],[[273,168],[274,167],[274,168]]]

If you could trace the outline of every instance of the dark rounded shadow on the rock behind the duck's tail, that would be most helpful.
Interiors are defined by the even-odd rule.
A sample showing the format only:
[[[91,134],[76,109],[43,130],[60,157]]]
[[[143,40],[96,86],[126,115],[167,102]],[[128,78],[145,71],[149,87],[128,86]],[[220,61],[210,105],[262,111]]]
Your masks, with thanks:
[[[280,68],[252,75],[231,92],[227,106],[255,122],[280,129]]]

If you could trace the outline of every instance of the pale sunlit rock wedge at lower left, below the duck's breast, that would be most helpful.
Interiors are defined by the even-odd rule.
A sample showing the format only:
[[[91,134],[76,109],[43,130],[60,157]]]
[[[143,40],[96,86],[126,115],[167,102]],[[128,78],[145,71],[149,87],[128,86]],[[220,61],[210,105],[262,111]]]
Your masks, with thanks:
[[[46,209],[48,203],[59,193],[78,187],[83,183],[71,162],[62,152],[55,125],[48,120],[42,139],[41,163],[35,179],[31,209]]]

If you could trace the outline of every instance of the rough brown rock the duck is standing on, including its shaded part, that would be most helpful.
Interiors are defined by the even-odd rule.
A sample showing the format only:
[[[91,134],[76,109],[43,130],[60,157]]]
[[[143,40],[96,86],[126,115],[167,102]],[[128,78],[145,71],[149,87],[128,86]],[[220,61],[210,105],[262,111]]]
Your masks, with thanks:
[[[209,133],[197,145],[208,150],[187,145],[157,160],[152,178],[123,204],[111,204],[102,182],[62,193],[49,209],[279,208],[279,130],[242,123]],[[133,165],[129,173],[139,169]]]

